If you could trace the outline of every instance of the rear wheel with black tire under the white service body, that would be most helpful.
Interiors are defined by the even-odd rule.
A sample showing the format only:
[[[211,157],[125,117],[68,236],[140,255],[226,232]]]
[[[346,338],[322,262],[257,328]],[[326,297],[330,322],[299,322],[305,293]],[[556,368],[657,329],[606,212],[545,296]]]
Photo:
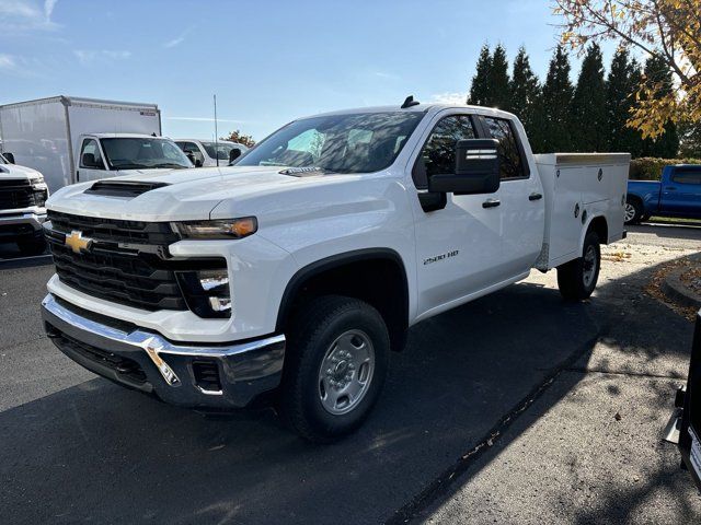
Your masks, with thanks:
[[[594,267],[590,266],[591,264]],[[596,288],[600,268],[599,236],[596,232],[589,231],[584,237],[582,257],[558,267],[558,288],[560,288],[562,296],[568,301],[588,299]]]

